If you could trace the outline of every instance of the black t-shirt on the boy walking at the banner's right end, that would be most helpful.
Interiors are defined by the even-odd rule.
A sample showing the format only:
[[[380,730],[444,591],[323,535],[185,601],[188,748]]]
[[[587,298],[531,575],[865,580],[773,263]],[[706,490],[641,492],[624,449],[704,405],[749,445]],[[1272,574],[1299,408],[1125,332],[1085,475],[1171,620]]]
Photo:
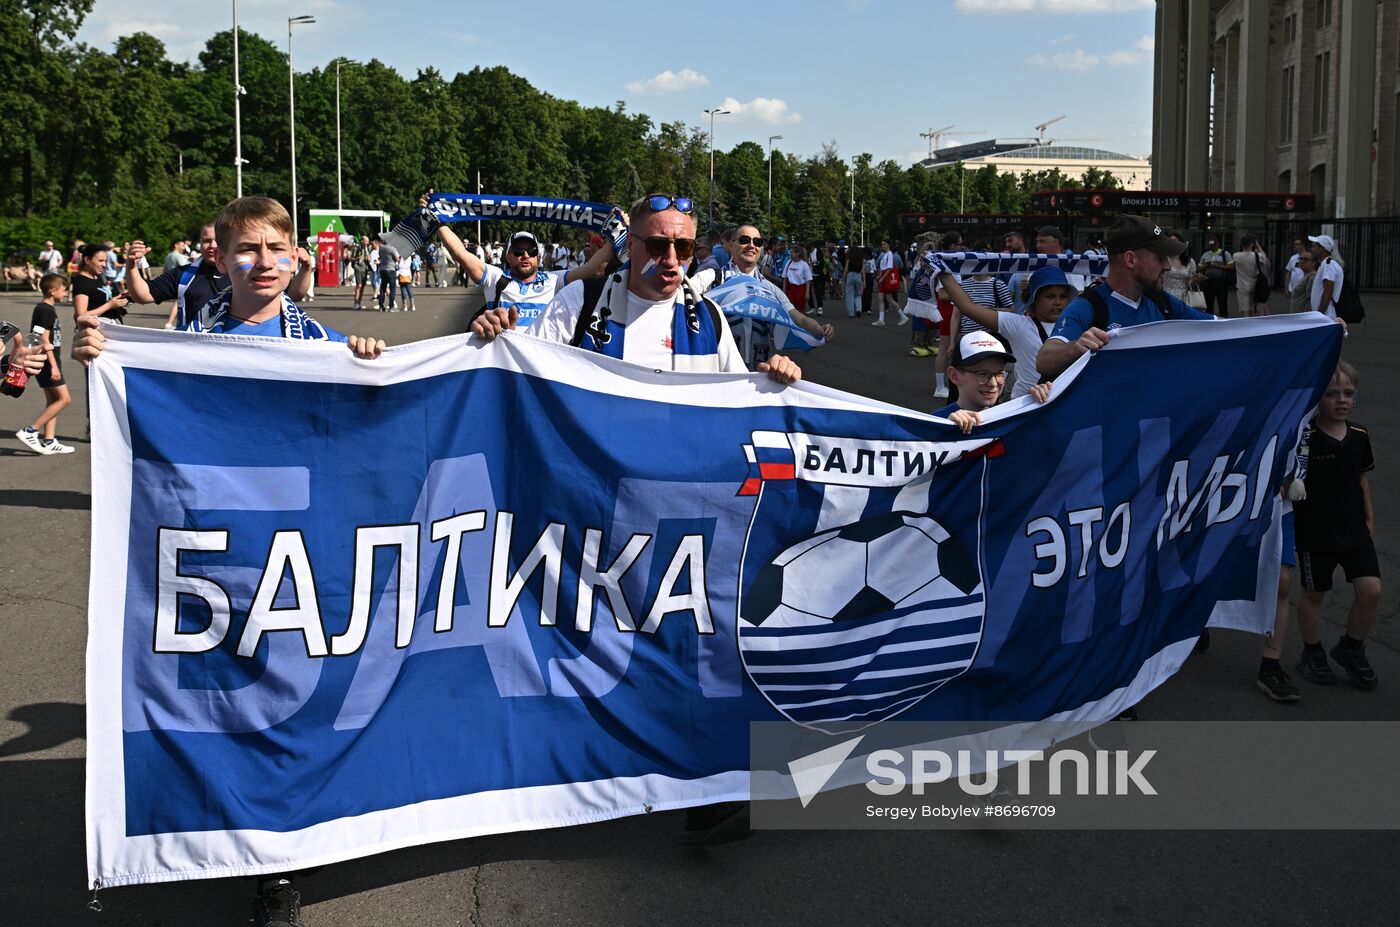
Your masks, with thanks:
[[[1313,421],[1308,426],[1308,499],[1294,503],[1299,550],[1348,550],[1366,542],[1366,503],[1361,475],[1372,471],[1371,434],[1347,423],[1338,441]]]

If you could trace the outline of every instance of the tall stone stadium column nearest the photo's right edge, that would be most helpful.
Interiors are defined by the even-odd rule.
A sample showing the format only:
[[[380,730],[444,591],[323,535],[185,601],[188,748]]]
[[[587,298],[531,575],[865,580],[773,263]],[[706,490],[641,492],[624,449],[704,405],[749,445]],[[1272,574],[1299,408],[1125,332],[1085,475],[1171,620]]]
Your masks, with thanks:
[[[1376,113],[1376,0],[1337,4],[1337,218],[1371,214],[1371,129]]]

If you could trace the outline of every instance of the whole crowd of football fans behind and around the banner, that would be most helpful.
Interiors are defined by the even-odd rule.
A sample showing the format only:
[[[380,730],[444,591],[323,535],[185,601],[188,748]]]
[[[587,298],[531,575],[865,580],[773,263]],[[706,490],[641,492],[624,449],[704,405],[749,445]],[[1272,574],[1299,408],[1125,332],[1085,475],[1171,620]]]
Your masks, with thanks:
[[[1229,315],[1231,281],[1239,314],[1270,311],[1273,267],[1257,238],[1246,238],[1233,253],[1211,241],[1194,259],[1179,234],[1131,216],[1107,230],[1099,245],[1107,270],[1095,279],[1060,267],[960,277],[939,252],[991,246],[987,241],[966,245],[958,232],[924,237],[907,246],[885,239],[871,249],[840,241],[790,242],[749,224],[701,237],[690,200],[665,195],[634,203],[626,221],[626,263],[602,235],[568,242],[517,231],[505,242],[483,245],[440,225],[434,239],[412,253],[400,253],[392,235],[360,237],[344,248],[342,279],[354,286],[354,308],[365,308],[368,288],[384,312],[413,311],[416,286],[477,286],[484,305],[469,328],[484,340],[525,328],[536,337],[655,370],[752,370],[780,384],[798,381],[802,371],[774,350],[771,323],[704,311],[704,294],[741,274],[752,277],[783,305],[795,328],[826,340],[834,337],[834,328],[816,319],[832,294],[850,319],[871,316],[874,326],[911,322],[909,353],[935,358],[932,395],[946,400],[937,414],[965,433],[977,428],[983,413],[998,402],[1021,396],[1046,402],[1054,378],[1085,353],[1106,346],[1114,328],[1224,318]],[[1001,245],[1012,253],[1028,251],[1021,232],[1007,234]],[[1046,227],[1036,230],[1033,245],[1039,253],[1064,253],[1067,242],[1057,228]],[[1345,286],[1337,242],[1316,235],[1295,246],[1285,267],[1289,307],[1336,318]],[[59,305],[66,300],[77,329],[71,356],[84,364],[104,350],[99,319],[122,323],[132,304],[169,302],[167,328],[340,342],[367,360],[384,350],[382,340],[336,332],[300,307],[312,298],[315,262],[293,241],[290,216],[272,199],[234,200],[196,238],[171,242],[160,270],[148,263],[148,253],[141,241],[120,248],[111,241],[78,241],[67,255],[45,242],[43,272],[36,281],[42,301],[31,319],[38,337],[27,342],[22,333],[15,335],[6,358],[7,370],[22,368],[43,392],[38,417],[15,435],[29,449],[46,455],[73,451],[56,438],[57,416],[71,402],[60,360]],[[1301,697],[1281,665],[1294,618],[1289,588],[1295,567],[1302,584],[1298,672],[1309,682],[1329,685],[1336,681],[1336,664],[1355,686],[1376,686],[1364,650],[1380,597],[1368,478],[1373,456],[1366,430],[1351,421],[1358,382],[1354,367],[1338,365],[1306,430],[1299,466],[1280,490],[1285,510],[1291,510],[1285,515],[1284,571],[1274,632],[1257,672],[1259,688],[1278,702]],[[1338,566],[1354,597],[1329,662],[1319,615]],[[1198,647],[1208,637],[1201,641]],[[746,829],[743,808],[692,809],[686,839],[718,843],[741,829]],[[287,917],[294,909],[290,875],[260,885],[258,923],[300,923]]]

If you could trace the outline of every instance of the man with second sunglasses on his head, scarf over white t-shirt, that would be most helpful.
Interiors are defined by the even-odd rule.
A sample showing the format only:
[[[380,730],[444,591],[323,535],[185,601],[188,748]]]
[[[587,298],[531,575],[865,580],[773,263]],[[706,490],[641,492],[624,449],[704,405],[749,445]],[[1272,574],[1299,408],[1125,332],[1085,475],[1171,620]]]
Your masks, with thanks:
[[[714,272],[686,277],[696,246],[693,209],[683,196],[637,200],[630,210],[630,265],[601,286],[589,281],[564,287],[531,326],[531,335],[654,370],[748,372],[724,316],[704,301]],[[609,252],[606,246],[603,251]],[[472,322],[472,333],[491,340],[517,328],[518,315],[514,307],[487,309]],[[781,384],[802,377],[798,365],[783,356],[757,370]]]

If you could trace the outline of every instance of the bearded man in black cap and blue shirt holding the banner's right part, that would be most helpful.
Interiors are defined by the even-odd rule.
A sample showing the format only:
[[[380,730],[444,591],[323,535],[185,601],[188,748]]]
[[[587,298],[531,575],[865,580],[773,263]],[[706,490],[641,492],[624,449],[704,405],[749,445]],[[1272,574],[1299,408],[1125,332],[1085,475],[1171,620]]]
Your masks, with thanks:
[[[1109,276],[1065,307],[1036,357],[1036,370],[1058,377],[1081,354],[1109,343],[1116,328],[1163,319],[1214,319],[1162,291],[1168,258],[1186,251],[1161,225],[1141,216],[1119,216],[1105,237]]]

